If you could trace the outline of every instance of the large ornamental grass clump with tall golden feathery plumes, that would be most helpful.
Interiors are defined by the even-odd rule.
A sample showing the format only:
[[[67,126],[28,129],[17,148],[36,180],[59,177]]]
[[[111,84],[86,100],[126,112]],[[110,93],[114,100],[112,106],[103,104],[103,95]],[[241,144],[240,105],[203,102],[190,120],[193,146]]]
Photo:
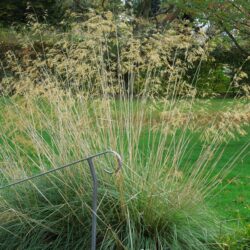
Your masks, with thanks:
[[[219,227],[206,199],[226,172],[214,175],[221,156],[220,131],[215,130],[210,143],[204,143],[194,161],[189,160],[195,91],[181,77],[188,66],[172,59],[185,50],[192,64],[197,53],[189,53],[192,46],[187,44],[176,48],[179,36],[168,41],[158,34],[143,48],[138,39],[125,37],[127,47],[120,51],[115,47],[120,52],[117,64],[109,63],[107,56],[119,41],[115,36],[109,47],[103,32],[109,34],[116,27],[109,18],[99,19],[84,24],[86,41],[59,42],[48,51],[46,62],[40,57],[28,60],[25,70],[13,64],[19,74],[16,92],[23,96],[3,111],[1,182],[114,149],[124,160],[118,176],[102,171],[103,165],[111,165],[109,159],[96,162],[98,248],[211,249]],[[17,61],[12,54],[10,61]],[[123,75],[128,72],[126,88]],[[158,100],[152,94],[163,79],[166,84],[160,91],[168,101],[160,109],[168,116],[158,120]],[[63,90],[67,84],[73,85],[73,94]],[[83,89],[84,93],[79,91]],[[176,114],[182,111],[178,100],[182,92],[190,99],[185,122],[180,123],[182,116],[178,120]],[[92,186],[86,168],[76,166],[2,191],[1,248],[88,249]]]

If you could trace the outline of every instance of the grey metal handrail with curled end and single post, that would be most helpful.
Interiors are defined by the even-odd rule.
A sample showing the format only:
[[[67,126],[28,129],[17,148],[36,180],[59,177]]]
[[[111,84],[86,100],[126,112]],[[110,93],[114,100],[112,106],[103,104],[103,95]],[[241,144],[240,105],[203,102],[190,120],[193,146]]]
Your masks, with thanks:
[[[24,183],[24,182],[36,179],[36,178],[39,178],[41,176],[44,176],[44,175],[56,172],[58,170],[62,170],[64,168],[71,167],[71,166],[76,165],[78,163],[81,163],[83,161],[87,161],[88,165],[89,165],[89,168],[90,168],[90,173],[91,173],[92,181],[93,181],[91,250],[95,250],[96,249],[96,226],[97,226],[97,191],[98,191],[98,179],[97,179],[97,175],[96,175],[96,171],[95,171],[95,166],[94,166],[94,163],[93,163],[93,159],[96,158],[96,157],[105,155],[105,154],[113,154],[113,155],[115,155],[115,157],[117,159],[118,167],[117,167],[117,169],[115,171],[110,171],[110,170],[107,170],[107,169],[104,169],[104,171],[107,172],[108,174],[117,173],[122,168],[122,159],[121,159],[121,156],[117,152],[115,152],[113,150],[107,150],[107,151],[104,151],[104,152],[101,152],[101,153],[98,153],[98,154],[95,154],[95,155],[92,155],[92,156],[80,159],[78,161],[74,161],[74,162],[71,162],[69,164],[66,164],[66,165],[63,165],[63,166],[60,166],[60,167],[57,167],[57,168],[53,168],[53,169],[48,170],[46,172],[30,176],[28,178],[25,178],[25,179],[22,179],[22,180],[19,180],[19,181],[16,181],[16,182],[8,184],[6,186],[0,187],[0,190],[5,189],[5,188],[9,188],[9,187],[12,187],[12,186],[15,186],[15,185],[18,185],[18,184],[21,184],[21,183]]]

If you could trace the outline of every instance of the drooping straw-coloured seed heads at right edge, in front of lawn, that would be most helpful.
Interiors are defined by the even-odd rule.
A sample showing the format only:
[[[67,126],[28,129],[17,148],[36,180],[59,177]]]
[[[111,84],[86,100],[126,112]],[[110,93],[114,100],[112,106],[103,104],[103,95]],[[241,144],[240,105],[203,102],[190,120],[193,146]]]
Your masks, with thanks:
[[[199,101],[201,108],[193,110],[193,104],[188,101],[180,101],[176,107],[161,111],[155,119],[154,128],[161,126],[161,120],[167,124],[166,130],[171,128],[188,127],[192,132],[198,132],[200,139],[212,141],[215,137],[218,142],[235,140],[238,136],[247,135],[246,128],[250,124],[250,105],[248,102],[234,104],[223,111],[208,111],[209,102]],[[168,131],[169,132],[169,131]]]

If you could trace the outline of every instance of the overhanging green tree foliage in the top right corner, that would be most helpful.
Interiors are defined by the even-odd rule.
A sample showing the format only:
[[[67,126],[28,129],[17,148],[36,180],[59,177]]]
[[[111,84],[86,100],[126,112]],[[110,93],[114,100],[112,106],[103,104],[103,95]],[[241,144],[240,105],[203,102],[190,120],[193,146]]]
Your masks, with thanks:
[[[222,36],[227,38],[236,46],[240,53],[249,56],[249,47],[246,41],[249,39],[249,0],[237,1],[185,1],[173,0],[163,1],[166,6],[173,4],[179,8],[179,14],[186,13],[193,20],[198,21],[198,25],[209,25],[210,36],[216,34],[216,30],[223,32]]]

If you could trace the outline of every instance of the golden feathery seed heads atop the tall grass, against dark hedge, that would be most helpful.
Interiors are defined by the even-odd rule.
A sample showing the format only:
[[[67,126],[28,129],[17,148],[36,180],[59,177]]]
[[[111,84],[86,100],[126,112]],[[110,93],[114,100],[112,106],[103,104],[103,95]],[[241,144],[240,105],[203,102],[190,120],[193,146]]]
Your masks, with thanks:
[[[190,31],[178,31],[183,27],[140,37],[131,23],[115,19],[111,12],[90,14],[86,21],[70,26],[69,32],[58,33],[35,20],[30,22],[40,47],[36,40],[22,38],[26,54],[7,53],[5,70],[13,75],[2,80],[5,93],[53,84],[92,93],[119,94],[129,89],[141,94],[146,87],[151,94],[194,94],[184,76],[206,59],[209,49],[194,43]],[[43,41],[46,34],[53,38],[50,46]]]

